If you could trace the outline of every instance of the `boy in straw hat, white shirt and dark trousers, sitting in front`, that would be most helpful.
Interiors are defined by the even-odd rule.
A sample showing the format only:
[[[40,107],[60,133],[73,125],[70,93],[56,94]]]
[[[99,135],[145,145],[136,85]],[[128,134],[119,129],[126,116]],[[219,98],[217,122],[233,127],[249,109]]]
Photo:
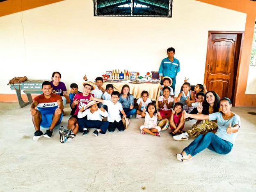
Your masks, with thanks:
[[[109,125],[108,121],[102,121],[101,116],[107,117],[108,113],[107,111],[101,107],[101,109],[98,108],[99,102],[96,102],[94,100],[89,101],[87,103],[86,108],[89,108],[85,110],[84,107],[82,107],[78,112],[78,124],[79,124],[79,130],[83,133],[83,136],[87,135],[89,133],[88,128],[96,128],[94,130],[93,134],[97,137],[98,133],[105,134],[107,131],[107,127]],[[83,117],[87,116],[87,119],[84,119]]]

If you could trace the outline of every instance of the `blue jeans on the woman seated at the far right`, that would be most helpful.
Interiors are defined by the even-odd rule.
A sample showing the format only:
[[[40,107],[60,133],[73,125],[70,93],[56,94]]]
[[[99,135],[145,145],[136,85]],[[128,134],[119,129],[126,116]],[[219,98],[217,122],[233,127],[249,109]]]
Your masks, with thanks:
[[[219,154],[227,154],[231,151],[232,147],[233,144],[231,142],[225,141],[214,133],[209,132],[206,133],[206,135],[199,135],[189,146],[183,149],[183,151],[185,151],[187,155],[190,154],[194,156],[208,148]]]

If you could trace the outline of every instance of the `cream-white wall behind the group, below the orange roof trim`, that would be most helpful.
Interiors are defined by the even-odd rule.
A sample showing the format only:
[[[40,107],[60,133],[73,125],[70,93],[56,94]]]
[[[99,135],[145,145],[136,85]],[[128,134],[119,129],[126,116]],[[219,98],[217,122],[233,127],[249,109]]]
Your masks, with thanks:
[[[94,17],[93,1],[66,0],[0,17],[0,94],[14,76],[48,79],[62,73],[66,86],[112,69],[158,71],[174,47],[185,77],[203,83],[209,30],[244,31],[246,14],[194,0],[174,0],[172,18]],[[24,29],[24,33],[23,33]],[[176,95],[178,89],[176,89]]]

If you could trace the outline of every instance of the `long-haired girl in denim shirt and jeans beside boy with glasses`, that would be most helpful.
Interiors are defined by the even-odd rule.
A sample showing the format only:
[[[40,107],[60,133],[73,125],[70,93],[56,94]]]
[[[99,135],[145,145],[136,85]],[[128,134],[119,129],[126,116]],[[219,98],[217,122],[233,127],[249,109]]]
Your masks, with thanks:
[[[123,110],[126,114],[127,117],[130,119],[132,118],[133,114],[136,114],[136,109],[133,108],[133,95],[130,94],[130,87],[129,85],[123,85],[120,98],[119,98],[119,103],[122,104]]]

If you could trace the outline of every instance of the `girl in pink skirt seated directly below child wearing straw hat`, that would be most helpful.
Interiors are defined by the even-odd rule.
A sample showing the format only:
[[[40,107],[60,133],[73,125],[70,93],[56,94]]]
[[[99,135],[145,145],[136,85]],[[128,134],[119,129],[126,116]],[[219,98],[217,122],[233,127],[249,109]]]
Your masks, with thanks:
[[[158,97],[158,104],[159,104],[159,112],[163,119],[171,116],[171,107],[174,102],[174,98],[170,96],[170,87],[164,87],[163,89],[163,95]]]

